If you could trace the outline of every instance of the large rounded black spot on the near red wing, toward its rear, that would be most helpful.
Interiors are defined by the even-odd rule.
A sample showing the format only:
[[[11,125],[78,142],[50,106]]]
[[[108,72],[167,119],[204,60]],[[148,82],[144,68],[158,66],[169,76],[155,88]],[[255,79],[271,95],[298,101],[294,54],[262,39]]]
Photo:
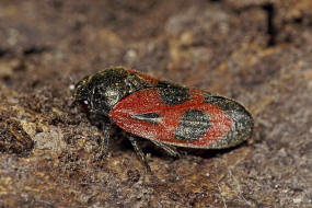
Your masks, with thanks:
[[[195,141],[201,138],[210,126],[210,117],[200,109],[187,109],[184,112],[175,138],[183,141]]]

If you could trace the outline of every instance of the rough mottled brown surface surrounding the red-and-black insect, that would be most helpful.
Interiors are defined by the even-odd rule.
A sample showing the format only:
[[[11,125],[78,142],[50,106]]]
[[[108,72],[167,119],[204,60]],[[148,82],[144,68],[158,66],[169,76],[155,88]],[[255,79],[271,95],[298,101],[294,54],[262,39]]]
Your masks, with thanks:
[[[312,4],[271,1],[0,2],[1,207],[312,207]],[[124,65],[244,103],[254,137],[173,160],[101,131],[70,88]]]

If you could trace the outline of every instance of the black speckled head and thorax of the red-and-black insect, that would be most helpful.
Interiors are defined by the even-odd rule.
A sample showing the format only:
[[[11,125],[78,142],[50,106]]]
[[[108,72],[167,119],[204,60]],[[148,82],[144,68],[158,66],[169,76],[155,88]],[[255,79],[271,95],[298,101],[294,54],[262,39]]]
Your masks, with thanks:
[[[81,103],[92,113],[107,116],[123,97],[148,86],[150,83],[123,67],[107,68],[76,84],[74,103]]]

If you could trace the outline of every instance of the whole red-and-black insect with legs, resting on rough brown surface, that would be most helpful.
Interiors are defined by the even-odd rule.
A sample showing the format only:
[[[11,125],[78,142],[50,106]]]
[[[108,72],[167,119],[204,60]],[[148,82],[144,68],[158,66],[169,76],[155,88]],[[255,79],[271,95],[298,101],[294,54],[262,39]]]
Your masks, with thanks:
[[[103,155],[112,126],[127,134],[141,162],[150,171],[137,137],[149,139],[170,155],[175,147],[223,149],[252,136],[253,118],[238,102],[124,68],[112,67],[76,84],[74,104],[102,117]]]

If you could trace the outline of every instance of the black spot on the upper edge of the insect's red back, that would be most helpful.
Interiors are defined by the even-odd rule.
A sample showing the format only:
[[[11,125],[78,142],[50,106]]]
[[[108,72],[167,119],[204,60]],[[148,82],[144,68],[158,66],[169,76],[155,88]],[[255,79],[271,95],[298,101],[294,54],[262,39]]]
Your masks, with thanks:
[[[160,81],[155,88],[158,88],[158,93],[166,105],[177,105],[189,100],[187,88],[167,81]]]

